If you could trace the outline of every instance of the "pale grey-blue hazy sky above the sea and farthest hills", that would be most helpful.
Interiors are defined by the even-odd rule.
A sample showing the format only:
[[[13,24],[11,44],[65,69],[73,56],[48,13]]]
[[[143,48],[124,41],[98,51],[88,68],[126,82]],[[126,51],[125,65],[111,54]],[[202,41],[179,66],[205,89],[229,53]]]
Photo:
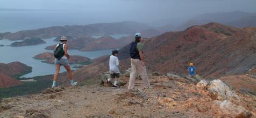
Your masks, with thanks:
[[[256,12],[256,0],[1,0],[0,8],[81,10],[158,19],[205,12]]]

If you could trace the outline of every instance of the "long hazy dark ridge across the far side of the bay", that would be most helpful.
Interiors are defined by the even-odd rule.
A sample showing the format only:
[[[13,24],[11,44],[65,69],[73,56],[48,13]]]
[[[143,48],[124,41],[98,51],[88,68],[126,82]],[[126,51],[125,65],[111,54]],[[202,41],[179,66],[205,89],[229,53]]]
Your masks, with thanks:
[[[0,33],[1,39],[23,40],[30,38],[51,38],[52,36],[69,35],[73,38],[83,38],[91,35],[132,34],[142,32],[152,27],[133,21],[119,23],[102,23],[90,25],[53,26],[16,33]]]

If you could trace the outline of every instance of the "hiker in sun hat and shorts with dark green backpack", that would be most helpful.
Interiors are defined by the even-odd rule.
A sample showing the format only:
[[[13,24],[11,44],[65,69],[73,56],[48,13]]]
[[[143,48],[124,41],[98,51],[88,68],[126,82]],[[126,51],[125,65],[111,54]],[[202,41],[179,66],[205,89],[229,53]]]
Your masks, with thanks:
[[[68,45],[67,45],[67,38],[65,36],[61,36],[60,43],[54,49],[54,57],[55,57],[55,75],[53,78],[53,85],[52,89],[56,87],[56,80],[60,72],[60,66],[63,65],[65,69],[68,71],[68,76],[70,79],[70,84],[75,86],[77,82],[74,82],[72,77],[72,71],[69,67],[68,59],[70,58],[68,55]]]

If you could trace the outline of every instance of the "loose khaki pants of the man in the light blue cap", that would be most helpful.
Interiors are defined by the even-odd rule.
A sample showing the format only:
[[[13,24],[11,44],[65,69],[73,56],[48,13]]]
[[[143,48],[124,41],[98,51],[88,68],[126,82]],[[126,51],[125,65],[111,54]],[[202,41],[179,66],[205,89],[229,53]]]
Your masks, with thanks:
[[[143,67],[141,60],[132,58],[131,59],[131,74],[130,74],[128,90],[133,89],[137,72],[139,73],[141,79],[143,80],[144,85],[147,87],[150,86],[150,82],[148,82],[148,78],[147,78],[146,67]]]

